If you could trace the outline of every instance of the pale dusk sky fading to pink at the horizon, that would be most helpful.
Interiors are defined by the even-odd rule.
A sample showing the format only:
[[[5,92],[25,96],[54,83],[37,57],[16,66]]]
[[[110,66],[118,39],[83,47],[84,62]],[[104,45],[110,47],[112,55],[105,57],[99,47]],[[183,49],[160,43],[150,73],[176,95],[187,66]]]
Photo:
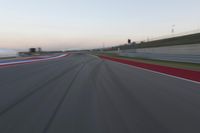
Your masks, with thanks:
[[[0,0],[0,48],[110,47],[200,29],[199,0]]]

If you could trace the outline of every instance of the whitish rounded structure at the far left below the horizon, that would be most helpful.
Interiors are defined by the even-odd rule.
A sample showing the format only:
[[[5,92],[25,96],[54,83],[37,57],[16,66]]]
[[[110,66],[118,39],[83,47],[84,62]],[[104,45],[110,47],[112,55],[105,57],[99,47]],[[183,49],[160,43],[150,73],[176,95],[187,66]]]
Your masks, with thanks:
[[[0,58],[4,57],[17,57],[18,52],[12,49],[1,49],[0,48]]]

